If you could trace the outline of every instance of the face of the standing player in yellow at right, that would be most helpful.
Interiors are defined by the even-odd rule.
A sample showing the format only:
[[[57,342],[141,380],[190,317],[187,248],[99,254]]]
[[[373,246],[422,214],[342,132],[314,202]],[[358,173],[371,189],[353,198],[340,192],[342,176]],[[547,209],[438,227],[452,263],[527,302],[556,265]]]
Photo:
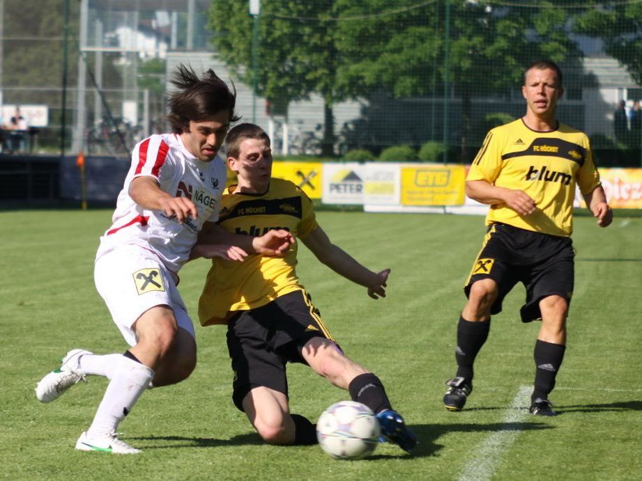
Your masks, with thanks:
[[[557,101],[564,90],[560,86],[555,70],[532,68],[526,72],[521,93],[526,99],[526,109],[537,118],[555,118]]]

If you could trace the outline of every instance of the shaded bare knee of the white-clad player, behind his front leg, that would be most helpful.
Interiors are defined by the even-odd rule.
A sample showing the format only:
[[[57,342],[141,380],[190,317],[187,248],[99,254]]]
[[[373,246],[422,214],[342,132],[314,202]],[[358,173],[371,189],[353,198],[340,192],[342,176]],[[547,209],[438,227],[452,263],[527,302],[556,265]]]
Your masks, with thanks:
[[[196,340],[191,333],[178,328],[174,344],[154,370],[153,386],[169,386],[187,379],[196,368],[196,360]]]

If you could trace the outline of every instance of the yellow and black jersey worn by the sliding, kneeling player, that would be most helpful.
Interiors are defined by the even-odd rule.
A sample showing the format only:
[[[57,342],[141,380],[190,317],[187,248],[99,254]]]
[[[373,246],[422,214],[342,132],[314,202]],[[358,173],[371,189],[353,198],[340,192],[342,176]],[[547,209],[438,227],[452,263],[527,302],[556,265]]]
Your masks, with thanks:
[[[289,180],[271,179],[266,194],[231,194],[221,201],[219,225],[242,235],[263,235],[271,229],[286,229],[298,239],[316,229],[312,201]],[[243,262],[213,259],[201,298],[202,325],[226,324],[231,312],[264,306],[277,297],[303,290],[296,276],[298,243],[285,257],[249,255]]]

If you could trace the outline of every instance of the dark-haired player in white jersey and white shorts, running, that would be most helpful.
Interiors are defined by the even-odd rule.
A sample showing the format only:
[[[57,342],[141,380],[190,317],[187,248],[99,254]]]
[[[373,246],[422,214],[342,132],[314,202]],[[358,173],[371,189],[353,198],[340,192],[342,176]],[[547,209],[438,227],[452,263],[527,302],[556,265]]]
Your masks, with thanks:
[[[72,349],[36,386],[38,400],[50,402],[87,374],[109,379],[77,450],[139,452],[116,437],[121,420],[146,388],[183,381],[194,370],[194,327],[176,288],[185,262],[240,261],[247,252],[282,255],[293,242],[284,230],[247,237],[215,225],[227,178],[217,152],[230,123],[238,120],[236,91],[212,70],[199,78],[183,65],[173,83],[178,90],[169,97],[172,132],[135,146],[95,260],[95,285],[131,347],[107,355]]]

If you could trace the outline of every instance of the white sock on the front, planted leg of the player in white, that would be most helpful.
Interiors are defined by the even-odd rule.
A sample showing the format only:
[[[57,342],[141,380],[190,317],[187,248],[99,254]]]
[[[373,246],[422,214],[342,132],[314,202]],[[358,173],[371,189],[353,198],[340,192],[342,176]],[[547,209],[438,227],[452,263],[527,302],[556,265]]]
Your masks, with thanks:
[[[146,365],[121,355],[87,436],[115,433],[153,377],[153,370]]]

